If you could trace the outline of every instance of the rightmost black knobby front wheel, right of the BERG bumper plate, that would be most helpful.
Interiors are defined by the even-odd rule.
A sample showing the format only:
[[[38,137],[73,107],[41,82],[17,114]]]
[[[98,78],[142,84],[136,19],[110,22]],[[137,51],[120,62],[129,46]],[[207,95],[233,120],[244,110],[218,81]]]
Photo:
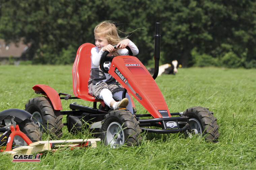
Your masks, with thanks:
[[[189,117],[190,129],[193,134],[202,135],[207,141],[218,142],[219,125],[213,112],[203,107],[191,107],[184,111],[184,115]]]

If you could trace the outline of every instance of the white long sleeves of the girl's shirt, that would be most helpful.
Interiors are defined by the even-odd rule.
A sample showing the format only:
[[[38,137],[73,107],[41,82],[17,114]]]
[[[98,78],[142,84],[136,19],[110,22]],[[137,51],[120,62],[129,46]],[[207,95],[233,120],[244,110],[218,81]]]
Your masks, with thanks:
[[[137,55],[139,53],[138,48],[131,40],[128,44],[128,47],[130,47],[133,55]],[[127,49],[118,49],[117,52],[120,55],[128,55],[128,53],[129,53]],[[92,50],[91,50],[91,54],[92,54],[91,55],[91,68],[99,68],[100,67],[100,58],[103,53],[104,53],[104,51],[102,51],[102,48],[100,51],[97,47],[92,48]]]

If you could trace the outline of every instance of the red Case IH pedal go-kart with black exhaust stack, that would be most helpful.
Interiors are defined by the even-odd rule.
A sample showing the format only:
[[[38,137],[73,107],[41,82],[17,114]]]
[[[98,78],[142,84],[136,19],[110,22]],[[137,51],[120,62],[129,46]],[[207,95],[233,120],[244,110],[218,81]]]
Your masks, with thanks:
[[[124,144],[137,146],[141,140],[141,131],[201,134],[207,141],[217,142],[219,137],[217,118],[207,108],[192,107],[184,112],[169,112],[164,97],[154,80],[158,75],[160,59],[159,30],[160,23],[156,23],[155,73],[153,76],[136,57],[132,56],[129,47],[127,47],[129,51],[127,56],[107,57],[108,52],[105,51],[100,60],[101,70],[112,75],[124,87],[123,98],[128,91],[150,114],[131,114],[126,108],[113,110],[107,107],[102,100],[97,100],[88,94],[91,49],[95,47],[90,43],[79,47],[73,64],[75,97],[64,93],[58,94],[49,86],[36,84],[33,87],[35,93],[44,95],[44,97],[30,99],[25,105],[25,110],[33,115],[34,122],[41,125],[42,131],[49,131],[58,137],[62,136],[63,125],[67,125],[69,132],[75,132],[82,129],[83,122],[87,122],[90,124],[88,128],[98,131],[104,144],[110,144],[113,148]],[[103,67],[106,61],[111,62],[109,70]],[[61,95],[65,97],[60,97]],[[61,99],[83,99],[93,102],[93,107],[72,103],[69,105],[70,111],[62,111]],[[97,108],[97,102],[101,103],[99,108]],[[133,101],[132,105],[135,108]],[[67,123],[62,123],[62,115],[67,115]],[[178,115],[178,117],[171,117],[173,115]]]

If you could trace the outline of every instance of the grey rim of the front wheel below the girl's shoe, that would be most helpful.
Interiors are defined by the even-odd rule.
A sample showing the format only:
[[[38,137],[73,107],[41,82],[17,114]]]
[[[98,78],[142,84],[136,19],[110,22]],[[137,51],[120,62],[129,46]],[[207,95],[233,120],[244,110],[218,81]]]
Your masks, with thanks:
[[[112,122],[107,127],[106,140],[111,148],[119,148],[124,145],[124,130],[118,122]]]

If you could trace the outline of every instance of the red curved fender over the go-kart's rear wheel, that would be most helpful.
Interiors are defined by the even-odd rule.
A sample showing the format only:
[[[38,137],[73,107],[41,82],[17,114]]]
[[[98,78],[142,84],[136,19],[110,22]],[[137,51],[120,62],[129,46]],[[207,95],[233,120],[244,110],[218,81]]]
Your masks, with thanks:
[[[54,110],[62,110],[62,104],[61,104],[61,101],[60,101],[60,96],[56,92],[56,90],[54,90],[50,86],[47,86],[47,85],[44,85],[44,84],[36,84],[33,87],[33,89],[34,89],[34,91],[40,91],[40,92],[42,92],[42,95],[45,95],[45,96],[49,97],[49,99],[52,102]]]

